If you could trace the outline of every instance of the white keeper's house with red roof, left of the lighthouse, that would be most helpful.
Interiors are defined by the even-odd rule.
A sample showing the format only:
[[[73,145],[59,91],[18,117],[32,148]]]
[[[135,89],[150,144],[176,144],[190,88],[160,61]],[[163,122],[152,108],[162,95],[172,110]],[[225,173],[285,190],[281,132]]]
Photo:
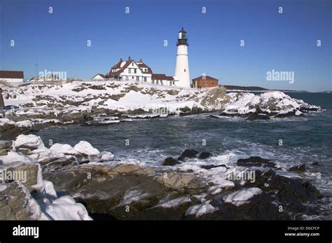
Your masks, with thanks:
[[[123,61],[122,58],[113,66],[106,75],[96,74],[92,80],[135,81],[139,83],[151,83],[157,85],[176,86],[177,80],[165,74],[153,74],[153,71],[143,60],[135,61],[131,57]]]

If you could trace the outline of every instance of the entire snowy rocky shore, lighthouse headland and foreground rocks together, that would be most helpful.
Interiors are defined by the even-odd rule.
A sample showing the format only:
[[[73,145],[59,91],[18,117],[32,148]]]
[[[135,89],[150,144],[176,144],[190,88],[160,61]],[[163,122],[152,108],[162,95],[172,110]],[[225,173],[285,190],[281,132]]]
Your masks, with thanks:
[[[58,125],[109,125],[211,112],[219,113],[214,118],[236,116],[252,121],[321,111],[283,92],[226,94],[223,88],[198,91],[73,82],[7,88],[4,100],[18,107],[0,112],[0,139],[5,139],[0,141],[0,169],[27,172],[27,179],[1,180],[0,219],[329,217],[324,210],[329,197],[308,181],[280,175],[282,168],[265,158],[210,165],[204,160],[212,153],[189,149],[179,158],[165,158],[160,166],[147,167],[116,160],[110,151],[100,152],[86,141],[75,146],[49,144],[48,148],[40,137],[29,134]],[[193,169],[192,159],[201,160],[202,165]],[[312,166],[294,166],[289,172],[303,173]]]

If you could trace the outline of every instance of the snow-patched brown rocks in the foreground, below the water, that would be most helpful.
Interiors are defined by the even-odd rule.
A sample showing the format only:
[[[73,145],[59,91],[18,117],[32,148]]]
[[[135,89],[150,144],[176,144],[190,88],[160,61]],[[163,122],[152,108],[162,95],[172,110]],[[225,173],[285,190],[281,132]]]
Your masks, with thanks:
[[[0,156],[0,169],[27,171],[25,182],[1,183],[1,219],[303,220],[328,216],[324,201],[329,197],[308,181],[279,175],[281,168],[264,158],[243,158],[235,166],[203,165],[201,169],[214,176],[202,176],[177,164],[146,167],[116,160],[111,152],[99,152],[85,141],[74,147],[53,144],[46,148],[40,137],[21,134],[15,141],[1,142],[1,148],[6,155]],[[186,150],[172,162],[186,164],[211,155]],[[301,170],[303,166],[298,173]],[[230,178],[240,172],[254,177]],[[66,202],[61,207],[74,208],[74,216],[46,214],[58,201]]]

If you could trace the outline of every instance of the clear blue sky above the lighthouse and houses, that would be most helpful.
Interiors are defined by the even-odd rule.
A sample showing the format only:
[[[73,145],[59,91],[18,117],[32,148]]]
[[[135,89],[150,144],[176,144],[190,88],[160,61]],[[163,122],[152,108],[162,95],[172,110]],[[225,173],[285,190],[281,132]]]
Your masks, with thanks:
[[[205,73],[228,85],[332,90],[330,0],[0,0],[0,69],[30,78],[37,60],[39,71],[91,78],[131,56],[171,76],[181,27],[191,78]],[[294,71],[295,82],[266,81],[272,69]]]

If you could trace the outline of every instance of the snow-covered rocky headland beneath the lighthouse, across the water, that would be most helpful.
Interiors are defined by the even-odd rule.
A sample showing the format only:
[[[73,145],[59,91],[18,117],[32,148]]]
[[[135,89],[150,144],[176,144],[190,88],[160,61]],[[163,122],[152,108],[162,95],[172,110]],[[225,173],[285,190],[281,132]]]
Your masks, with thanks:
[[[216,113],[214,118],[269,120],[321,111],[283,92],[227,93],[225,88],[183,90],[123,82],[73,82],[4,88],[0,139],[59,125],[110,125],[137,119]]]

